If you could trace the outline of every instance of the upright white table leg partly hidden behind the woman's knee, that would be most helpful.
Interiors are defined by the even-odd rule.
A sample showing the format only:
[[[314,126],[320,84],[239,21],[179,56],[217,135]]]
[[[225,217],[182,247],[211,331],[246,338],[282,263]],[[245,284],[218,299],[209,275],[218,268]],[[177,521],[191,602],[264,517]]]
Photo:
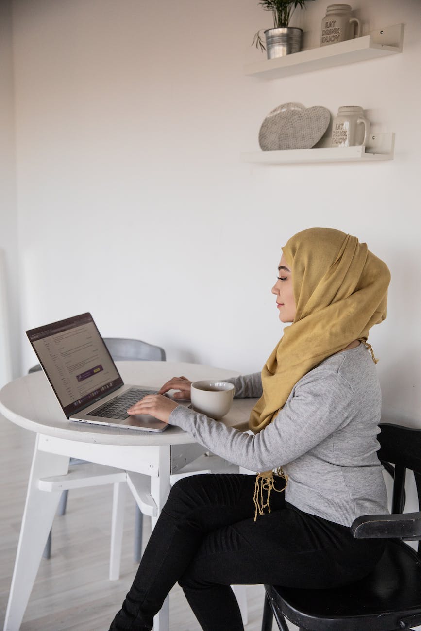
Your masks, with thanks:
[[[170,494],[171,451],[170,445],[159,448],[159,475],[151,478],[151,496],[157,505],[157,517],[152,517],[152,528]],[[170,628],[170,599],[165,598],[160,612],[153,618],[153,631],[169,631]]]

